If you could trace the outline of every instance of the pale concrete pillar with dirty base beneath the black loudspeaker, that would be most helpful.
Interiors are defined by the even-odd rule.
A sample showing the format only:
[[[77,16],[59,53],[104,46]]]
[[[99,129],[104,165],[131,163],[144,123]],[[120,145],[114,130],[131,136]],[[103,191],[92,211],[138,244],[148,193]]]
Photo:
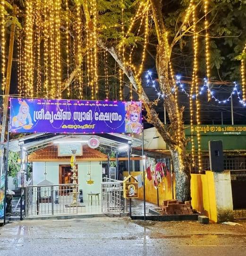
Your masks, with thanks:
[[[231,221],[233,217],[233,202],[230,182],[230,172],[213,173],[217,222]]]

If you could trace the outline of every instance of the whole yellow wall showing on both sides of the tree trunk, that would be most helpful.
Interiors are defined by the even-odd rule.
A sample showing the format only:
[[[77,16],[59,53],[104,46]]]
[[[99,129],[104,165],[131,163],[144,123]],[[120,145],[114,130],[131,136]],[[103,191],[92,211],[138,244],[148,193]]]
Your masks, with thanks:
[[[143,172],[131,172],[131,175],[137,176]],[[124,176],[128,176],[128,172],[123,172]],[[175,180],[173,178],[173,180]],[[173,181],[173,191],[175,198],[175,181]],[[214,222],[217,222],[217,210],[215,201],[214,177],[211,171],[206,174],[191,174],[191,204],[193,209],[200,211]],[[138,198],[144,199],[144,187],[138,190]],[[157,204],[157,190],[153,186],[153,179],[148,181],[145,176],[145,198],[146,201]],[[163,179],[159,187],[159,205],[163,200],[172,199],[171,176],[168,175]]]

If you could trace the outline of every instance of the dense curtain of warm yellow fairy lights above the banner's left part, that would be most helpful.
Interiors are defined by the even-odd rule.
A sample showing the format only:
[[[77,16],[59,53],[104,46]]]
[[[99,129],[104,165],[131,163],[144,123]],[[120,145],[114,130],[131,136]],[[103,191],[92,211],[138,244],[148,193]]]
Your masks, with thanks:
[[[72,65],[76,64],[76,76],[65,88],[67,96],[83,99],[83,85],[86,83],[86,86],[91,89],[91,99],[98,99],[96,0],[88,5],[93,20],[90,25],[84,21],[81,3],[78,1],[75,3],[76,18],[73,24],[68,18],[70,13],[68,0],[44,0],[42,8],[40,5],[41,2],[38,0],[27,1],[25,8],[25,26],[21,33],[23,45],[20,38],[17,47],[19,96],[32,98],[42,95],[46,98],[61,99],[64,97],[64,93],[62,94],[64,91],[62,79],[64,77],[61,75],[65,73],[65,79],[68,82],[73,69]],[[66,15],[62,16],[64,10]],[[3,15],[1,17],[4,18]],[[2,24],[4,24],[3,18],[1,19]],[[1,26],[1,42],[5,42],[4,32],[4,26]],[[69,40],[71,34],[75,36],[72,36],[72,39],[70,36]],[[62,39],[65,39],[65,44],[61,42]],[[4,44],[1,45],[4,46]],[[85,54],[83,47],[86,48]],[[62,60],[64,52],[65,61]],[[85,61],[83,58],[86,55],[87,63],[86,58]],[[83,61],[86,65],[87,82],[83,81]],[[1,62],[2,73],[4,73],[3,67],[5,67],[5,63]],[[4,89],[4,83],[2,83],[2,87]],[[87,88],[86,91],[88,91]],[[90,96],[87,95],[86,98]]]

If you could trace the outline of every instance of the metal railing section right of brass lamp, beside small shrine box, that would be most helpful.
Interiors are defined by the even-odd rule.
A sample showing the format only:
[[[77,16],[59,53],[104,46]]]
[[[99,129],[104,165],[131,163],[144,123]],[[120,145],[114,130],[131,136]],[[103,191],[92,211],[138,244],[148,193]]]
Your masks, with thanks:
[[[103,178],[102,212],[122,213],[127,211],[126,199],[123,198],[122,181]]]

